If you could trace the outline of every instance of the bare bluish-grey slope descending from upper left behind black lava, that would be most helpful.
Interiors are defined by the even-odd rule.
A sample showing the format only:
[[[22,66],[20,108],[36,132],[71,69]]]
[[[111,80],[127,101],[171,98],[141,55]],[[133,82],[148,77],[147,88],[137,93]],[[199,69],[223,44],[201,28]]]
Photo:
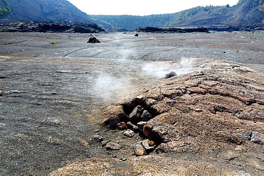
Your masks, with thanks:
[[[12,13],[1,19],[2,22],[71,21],[112,28],[109,23],[88,16],[66,0],[8,0],[8,3]]]

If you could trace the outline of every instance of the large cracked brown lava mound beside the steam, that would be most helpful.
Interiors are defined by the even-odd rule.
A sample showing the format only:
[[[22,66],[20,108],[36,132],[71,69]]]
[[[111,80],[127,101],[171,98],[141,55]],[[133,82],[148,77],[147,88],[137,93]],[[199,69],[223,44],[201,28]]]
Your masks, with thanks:
[[[212,151],[237,145],[263,149],[263,74],[226,61],[193,61],[204,69],[143,86],[134,97],[113,105],[104,115],[110,116],[119,107],[125,113],[121,117],[129,116],[124,122],[137,125],[148,112],[151,118],[139,133],[154,141],[155,147],[163,143],[158,153]],[[113,126],[122,120],[106,118]]]

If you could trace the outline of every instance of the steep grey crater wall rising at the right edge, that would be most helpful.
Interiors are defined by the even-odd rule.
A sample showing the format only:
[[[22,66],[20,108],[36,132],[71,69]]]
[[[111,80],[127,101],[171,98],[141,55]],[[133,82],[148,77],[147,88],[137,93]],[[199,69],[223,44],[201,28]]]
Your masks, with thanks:
[[[182,20],[179,25],[261,25],[264,13],[261,11],[264,1],[243,0],[236,6],[222,8],[209,13],[200,12],[190,19]]]

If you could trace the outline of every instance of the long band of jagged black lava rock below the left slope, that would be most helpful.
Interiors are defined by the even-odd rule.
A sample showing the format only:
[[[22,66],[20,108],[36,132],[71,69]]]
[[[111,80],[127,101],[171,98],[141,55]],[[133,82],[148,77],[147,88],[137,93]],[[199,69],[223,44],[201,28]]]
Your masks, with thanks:
[[[96,24],[72,22],[14,22],[1,23],[0,32],[98,33],[105,30]]]

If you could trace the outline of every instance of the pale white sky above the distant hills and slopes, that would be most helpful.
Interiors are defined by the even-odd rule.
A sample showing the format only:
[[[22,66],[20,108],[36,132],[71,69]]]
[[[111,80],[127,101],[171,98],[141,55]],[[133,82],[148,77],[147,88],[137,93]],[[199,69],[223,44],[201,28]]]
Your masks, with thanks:
[[[151,15],[180,12],[196,6],[234,6],[238,0],[68,0],[89,15]]]

